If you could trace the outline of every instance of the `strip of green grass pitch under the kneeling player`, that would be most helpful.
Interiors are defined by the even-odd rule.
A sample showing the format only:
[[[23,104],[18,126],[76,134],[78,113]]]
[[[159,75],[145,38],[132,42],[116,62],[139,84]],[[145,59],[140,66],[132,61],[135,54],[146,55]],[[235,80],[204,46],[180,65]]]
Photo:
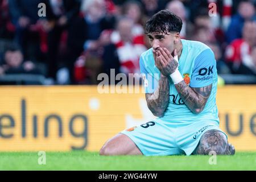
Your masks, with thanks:
[[[100,156],[98,152],[46,152],[46,164],[38,164],[37,152],[0,152],[0,170],[256,170],[256,152],[234,156]]]

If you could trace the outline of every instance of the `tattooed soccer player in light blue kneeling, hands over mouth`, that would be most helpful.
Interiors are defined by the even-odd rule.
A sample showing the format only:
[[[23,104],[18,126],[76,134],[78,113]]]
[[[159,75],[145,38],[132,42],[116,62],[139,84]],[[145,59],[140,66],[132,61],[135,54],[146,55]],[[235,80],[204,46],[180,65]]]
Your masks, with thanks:
[[[100,155],[233,155],[219,127],[217,69],[212,50],[180,39],[181,19],[168,10],[152,16],[145,29],[152,48],[139,60],[153,121],[122,131]]]

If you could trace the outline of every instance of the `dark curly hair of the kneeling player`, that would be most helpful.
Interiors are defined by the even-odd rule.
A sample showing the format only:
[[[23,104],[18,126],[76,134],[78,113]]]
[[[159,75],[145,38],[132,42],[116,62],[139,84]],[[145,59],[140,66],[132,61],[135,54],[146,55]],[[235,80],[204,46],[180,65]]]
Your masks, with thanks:
[[[145,24],[145,33],[159,32],[168,34],[168,32],[180,32],[182,20],[169,10],[161,10],[154,14]]]

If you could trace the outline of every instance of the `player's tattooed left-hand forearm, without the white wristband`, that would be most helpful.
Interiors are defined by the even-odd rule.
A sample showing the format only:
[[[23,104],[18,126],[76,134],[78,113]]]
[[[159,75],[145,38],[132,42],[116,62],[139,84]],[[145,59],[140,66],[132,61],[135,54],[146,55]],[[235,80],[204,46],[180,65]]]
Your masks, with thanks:
[[[161,75],[158,83],[158,89],[154,93],[146,93],[147,106],[151,112],[162,117],[169,102],[169,80],[168,77]]]

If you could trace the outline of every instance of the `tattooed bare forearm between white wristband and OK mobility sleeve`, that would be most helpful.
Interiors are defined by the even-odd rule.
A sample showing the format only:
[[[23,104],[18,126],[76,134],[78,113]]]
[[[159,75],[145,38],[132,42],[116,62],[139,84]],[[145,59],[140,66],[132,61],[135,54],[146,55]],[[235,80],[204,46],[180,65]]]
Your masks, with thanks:
[[[191,88],[184,80],[176,84],[175,87],[181,99],[196,114],[199,114],[204,109],[212,91],[212,84],[201,88]]]

